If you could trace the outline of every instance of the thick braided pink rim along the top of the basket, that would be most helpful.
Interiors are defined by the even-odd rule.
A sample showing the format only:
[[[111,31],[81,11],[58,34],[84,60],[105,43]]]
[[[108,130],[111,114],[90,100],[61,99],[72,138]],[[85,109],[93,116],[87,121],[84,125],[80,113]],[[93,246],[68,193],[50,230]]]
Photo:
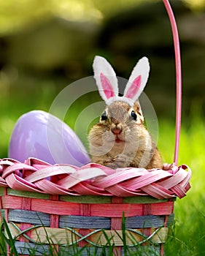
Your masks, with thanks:
[[[0,187],[50,195],[107,195],[129,197],[150,195],[162,199],[184,197],[190,188],[191,170],[186,165],[165,165],[162,170],[49,165],[39,159],[20,163],[0,160]]]

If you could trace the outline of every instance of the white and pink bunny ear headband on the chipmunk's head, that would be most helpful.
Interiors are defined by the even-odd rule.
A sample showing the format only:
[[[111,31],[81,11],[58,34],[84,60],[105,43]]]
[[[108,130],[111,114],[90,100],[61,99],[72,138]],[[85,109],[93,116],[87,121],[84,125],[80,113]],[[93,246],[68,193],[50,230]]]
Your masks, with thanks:
[[[106,59],[96,56],[93,61],[93,71],[99,94],[107,105],[119,100],[133,106],[147,83],[150,64],[146,57],[137,62],[125,86],[123,97],[118,96],[117,77],[114,69]]]

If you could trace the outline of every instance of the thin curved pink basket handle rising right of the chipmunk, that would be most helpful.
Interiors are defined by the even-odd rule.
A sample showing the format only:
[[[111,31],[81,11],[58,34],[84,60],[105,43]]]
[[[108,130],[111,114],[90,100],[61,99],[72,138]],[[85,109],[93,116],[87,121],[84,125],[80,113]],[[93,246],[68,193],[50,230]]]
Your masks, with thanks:
[[[175,124],[175,148],[174,148],[174,165],[178,163],[179,155],[179,137],[181,129],[181,116],[182,116],[182,69],[181,69],[181,56],[179,47],[179,34],[177,30],[177,23],[174,18],[174,13],[171,10],[169,0],[163,0],[166,11],[169,15],[171,23],[171,30],[174,39],[174,53],[175,53],[175,68],[176,68],[176,86],[177,86],[177,100],[176,100],[176,124]]]

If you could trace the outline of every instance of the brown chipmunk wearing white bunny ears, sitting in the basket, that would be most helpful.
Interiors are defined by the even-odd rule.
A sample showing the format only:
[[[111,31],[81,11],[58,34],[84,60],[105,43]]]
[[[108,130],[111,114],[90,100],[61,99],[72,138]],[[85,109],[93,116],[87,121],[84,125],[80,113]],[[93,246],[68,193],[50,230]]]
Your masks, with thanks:
[[[143,57],[134,67],[123,97],[118,96],[117,77],[106,59],[96,56],[93,71],[99,94],[107,107],[88,135],[92,162],[113,169],[161,168],[160,153],[144,127],[144,116],[139,104],[139,95],[150,72],[148,59]]]

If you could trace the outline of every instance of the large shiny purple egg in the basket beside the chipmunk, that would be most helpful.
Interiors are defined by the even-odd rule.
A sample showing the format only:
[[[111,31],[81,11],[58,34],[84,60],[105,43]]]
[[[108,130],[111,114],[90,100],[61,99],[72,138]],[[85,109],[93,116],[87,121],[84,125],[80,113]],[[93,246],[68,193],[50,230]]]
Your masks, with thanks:
[[[74,131],[42,110],[20,116],[9,142],[9,157],[20,162],[35,157],[51,165],[82,166],[90,162],[88,152]]]

